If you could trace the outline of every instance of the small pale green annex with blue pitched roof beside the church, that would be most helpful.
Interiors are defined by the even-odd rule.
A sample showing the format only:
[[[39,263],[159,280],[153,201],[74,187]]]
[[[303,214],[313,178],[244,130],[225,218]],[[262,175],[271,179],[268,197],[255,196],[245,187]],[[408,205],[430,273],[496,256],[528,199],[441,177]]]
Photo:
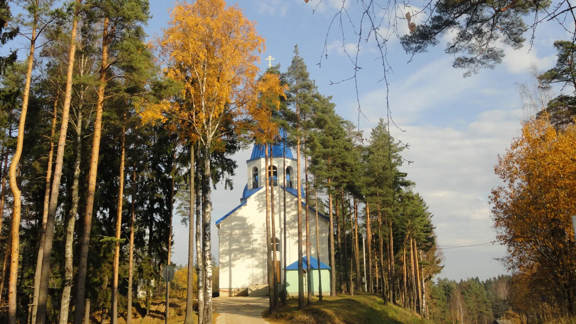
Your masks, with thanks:
[[[310,257],[310,268],[311,271],[306,269],[306,257],[302,258],[302,268],[304,269],[304,293],[308,293],[308,277],[312,273],[312,287],[314,288],[312,293],[314,295],[319,295],[319,263],[320,272],[322,277],[322,296],[330,295],[330,267],[322,262],[318,262],[316,258]],[[291,263],[286,267],[286,291],[288,296],[298,296],[298,261]]]

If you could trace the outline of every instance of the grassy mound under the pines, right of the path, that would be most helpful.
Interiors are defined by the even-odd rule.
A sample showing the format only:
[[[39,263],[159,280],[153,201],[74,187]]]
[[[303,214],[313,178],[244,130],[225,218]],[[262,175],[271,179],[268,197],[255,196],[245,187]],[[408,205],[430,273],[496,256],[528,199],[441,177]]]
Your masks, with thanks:
[[[281,307],[266,321],[275,324],[431,324],[418,314],[404,308],[386,305],[374,294],[357,292],[354,296],[314,298],[312,306],[297,310],[298,299],[290,298],[288,306]]]

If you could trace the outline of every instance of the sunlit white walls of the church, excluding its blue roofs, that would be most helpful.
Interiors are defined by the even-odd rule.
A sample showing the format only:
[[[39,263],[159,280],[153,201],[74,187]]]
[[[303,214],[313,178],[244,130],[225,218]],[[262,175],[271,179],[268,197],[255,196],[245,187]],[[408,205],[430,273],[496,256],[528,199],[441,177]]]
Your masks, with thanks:
[[[262,161],[263,159],[260,159]],[[276,160],[276,159],[274,159]],[[279,159],[282,162],[282,158]],[[257,160],[255,160],[257,161]],[[286,159],[287,166],[289,159]],[[249,164],[251,165],[251,164]],[[252,167],[256,165],[252,164]],[[251,168],[249,168],[251,169]],[[282,168],[279,168],[279,171]],[[259,172],[262,168],[259,167]],[[263,172],[262,172],[263,174]],[[280,178],[280,177],[279,177]],[[262,179],[260,177],[260,179]],[[280,178],[282,179],[282,178]],[[280,180],[279,180],[280,181]],[[279,183],[280,184],[280,183]],[[283,190],[274,187],[276,237],[283,246]],[[309,210],[310,254],[316,254],[316,214]],[[286,265],[298,259],[297,198],[286,193],[287,251]],[[305,208],[302,206],[302,238],[306,242]],[[328,221],[319,216],[320,261],[328,264]],[[244,295],[249,286],[266,285],[266,190],[262,189],[248,197],[247,202],[219,224],[219,264],[221,296]],[[306,246],[302,248],[306,255]],[[283,264],[283,251],[278,260]],[[323,278],[324,279],[324,278]],[[324,280],[323,280],[324,281]]]

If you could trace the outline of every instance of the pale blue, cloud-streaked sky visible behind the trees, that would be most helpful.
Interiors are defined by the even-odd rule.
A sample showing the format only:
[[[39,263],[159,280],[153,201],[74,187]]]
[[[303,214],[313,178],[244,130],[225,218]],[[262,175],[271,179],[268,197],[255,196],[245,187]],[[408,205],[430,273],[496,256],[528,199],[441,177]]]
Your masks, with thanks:
[[[169,1],[150,1],[153,18],[147,32],[160,33],[169,19]],[[386,118],[386,89],[382,82],[382,67],[377,61],[374,44],[361,46],[358,73],[358,96],[366,118],[358,118],[357,97],[353,82],[330,85],[346,79],[353,73],[343,44],[355,51],[356,36],[345,25],[344,40],[338,24],[334,25],[326,41],[328,59],[319,63],[324,49],[329,22],[341,6],[340,0],[324,0],[315,13],[314,0],[244,0],[238,5],[245,15],[257,22],[257,31],[266,39],[266,52],[262,53],[260,67],[265,70],[268,55],[274,64],[280,63],[282,71],[290,65],[294,45],[298,44],[300,55],[305,59],[310,75],[316,80],[319,91],[333,96],[336,111],[344,118],[359,121],[359,127],[369,135],[370,128],[378,118]],[[354,17],[357,2],[349,1],[348,9]],[[415,3],[418,5],[420,2]],[[402,17],[408,10],[400,10]],[[422,16],[416,17],[416,24]],[[406,33],[406,22],[399,22],[400,33]],[[526,35],[529,36],[529,35]],[[555,63],[552,43],[567,39],[565,32],[556,25],[542,25],[532,50],[528,47],[514,51],[505,48],[506,57],[494,70],[463,78],[464,71],[453,69],[453,57],[444,53],[442,44],[407,63],[410,56],[401,48],[394,36],[388,42],[388,61],[393,69],[389,75],[389,102],[392,116],[400,129],[393,134],[410,149],[403,153],[414,161],[404,165],[403,171],[416,183],[418,191],[434,214],[438,244],[478,244],[495,239],[491,229],[488,195],[500,180],[494,175],[497,155],[505,152],[513,137],[520,134],[522,101],[515,82],[528,82],[528,67],[536,63],[540,69],[548,69]],[[218,186],[213,194],[213,219],[220,218],[234,208],[245,185],[245,164],[250,149],[237,153],[237,175],[234,190]],[[238,199],[238,200],[237,200]],[[187,263],[187,228],[175,220],[175,246],[173,262]],[[214,253],[217,255],[217,229],[214,231]],[[446,248],[445,268],[441,277],[459,280],[467,277],[497,276],[505,273],[505,267],[494,258],[502,257],[505,248],[490,246],[482,248]]]

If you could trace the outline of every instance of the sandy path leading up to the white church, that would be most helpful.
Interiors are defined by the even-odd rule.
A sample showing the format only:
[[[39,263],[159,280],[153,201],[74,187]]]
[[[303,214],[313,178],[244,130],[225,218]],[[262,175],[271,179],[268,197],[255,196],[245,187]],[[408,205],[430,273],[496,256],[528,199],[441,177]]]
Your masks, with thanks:
[[[268,297],[217,297],[212,302],[220,314],[216,324],[268,324],[260,315],[268,308]]]

